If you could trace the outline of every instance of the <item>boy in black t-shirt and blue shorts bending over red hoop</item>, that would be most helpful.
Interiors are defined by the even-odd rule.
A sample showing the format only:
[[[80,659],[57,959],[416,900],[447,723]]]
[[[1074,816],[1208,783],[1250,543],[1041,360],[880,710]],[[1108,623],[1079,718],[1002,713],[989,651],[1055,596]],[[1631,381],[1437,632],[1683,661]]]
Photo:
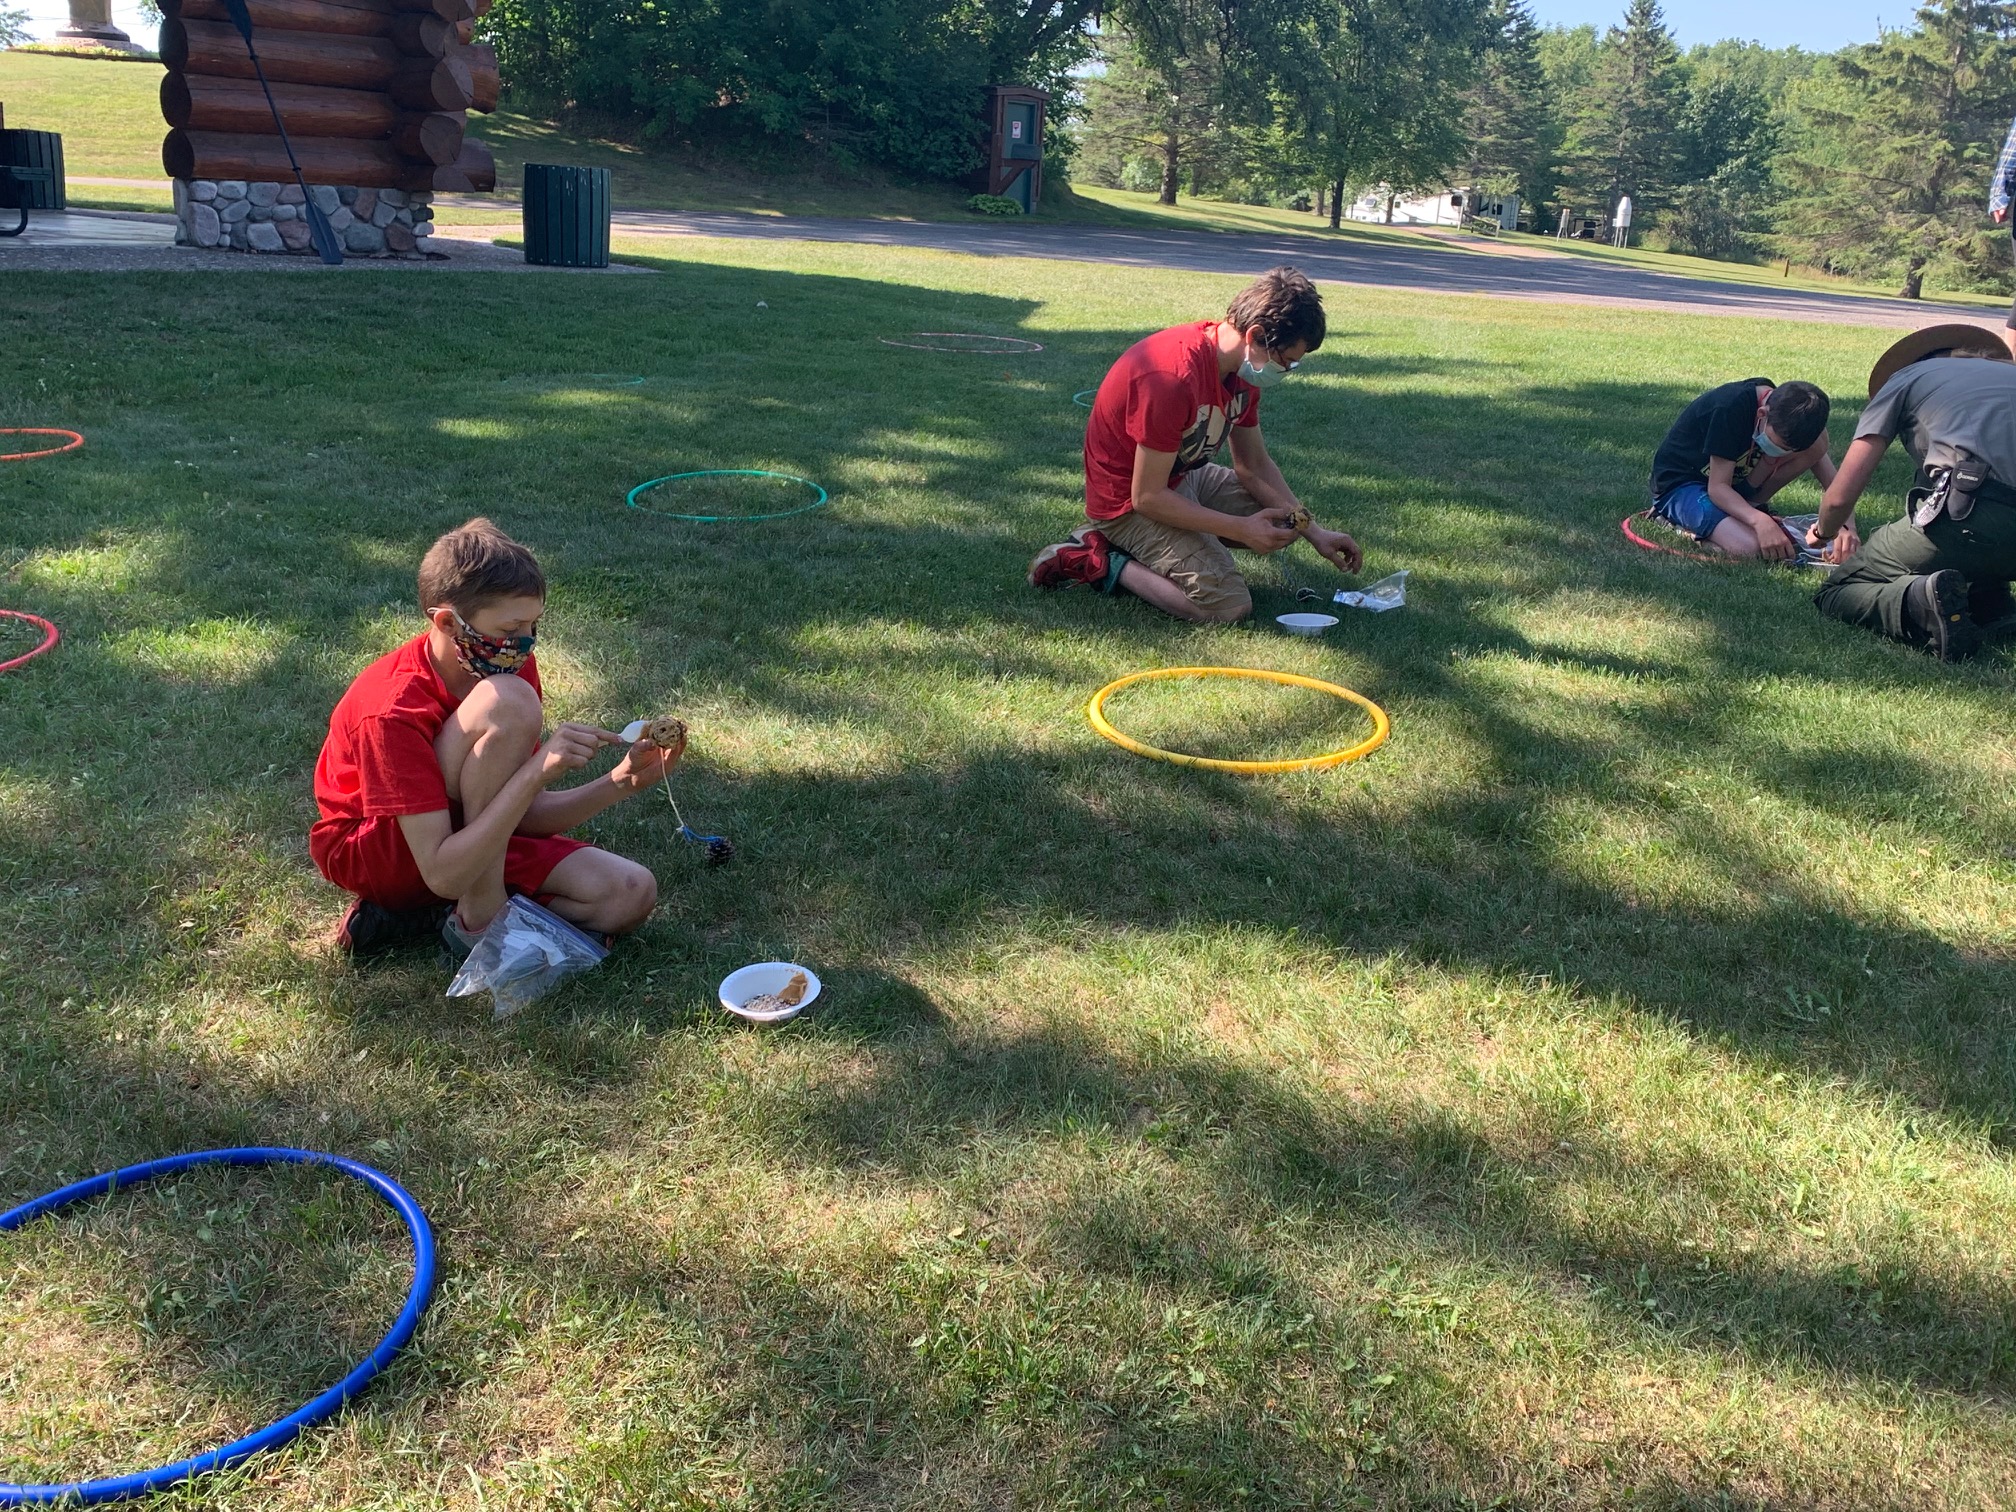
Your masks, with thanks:
[[[1772,494],[1808,472],[1835,482],[1826,450],[1826,395],[1810,383],[1742,379],[1710,389],[1679,411],[1651,464],[1653,514],[1730,556],[1782,562],[1798,542],[1764,508]],[[1853,526],[1826,544],[1826,560],[1855,550]]]

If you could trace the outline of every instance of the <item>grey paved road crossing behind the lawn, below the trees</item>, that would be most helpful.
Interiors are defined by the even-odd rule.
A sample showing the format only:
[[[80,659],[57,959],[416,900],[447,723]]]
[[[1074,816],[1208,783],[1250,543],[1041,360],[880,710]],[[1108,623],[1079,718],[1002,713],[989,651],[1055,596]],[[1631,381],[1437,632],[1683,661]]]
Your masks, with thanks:
[[[1133,268],[1256,274],[1292,262],[1310,278],[1337,284],[1407,288],[1425,294],[1494,294],[1500,298],[1683,314],[1746,314],[1772,321],[1919,327],[1972,321],[2002,329],[1998,310],[1978,304],[1863,298],[1770,284],[1726,284],[1645,272],[1572,254],[1538,258],[1482,256],[1445,246],[1387,244],[1325,236],[1254,236],[1244,232],[1123,230],[1113,226],[935,224],[915,220],[827,220],[704,212],[619,210],[619,236],[734,236],[754,240],[863,242],[921,246],[1002,258],[1111,262]]]

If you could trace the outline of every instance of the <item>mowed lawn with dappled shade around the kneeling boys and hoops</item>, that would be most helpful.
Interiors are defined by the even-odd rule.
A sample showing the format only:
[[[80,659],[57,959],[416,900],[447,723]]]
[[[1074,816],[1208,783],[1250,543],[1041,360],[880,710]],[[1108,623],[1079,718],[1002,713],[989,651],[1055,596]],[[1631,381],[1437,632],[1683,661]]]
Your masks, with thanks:
[[[2008,1504],[2008,653],[1617,530],[1697,389],[1812,377],[1845,435],[1889,333],[1333,290],[1266,431],[1367,581],[1413,577],[1302,641],[1304,548],[1238,629],[1022,585],[1079,518],[1070,393],[1238,280],[655,252],[6,280],[0,423],[91,442],[0,468],[0,603],[65,629],[0,675],[0,1204],[292,1143],[444,1252],[367,1399],[177,1504]],[[698,468],[833,502],[623,506]],[[329,708],[474,512],[550,575],[552,718],[683,714],[679,804],[740,847],[601,816],[661,909],[502,1028],[425,952],[337,958],[304,841]],[[1137,760],[1083,704],[1161,665],[1341,681],[1395,734]],[[1276,691],[1115,704],[1220,752],[1363,732]],[[712,1004],[778,956],[814,1012]],[[254,1427],[403,1276],[304,1173],[10,1238],[0,1476]]]

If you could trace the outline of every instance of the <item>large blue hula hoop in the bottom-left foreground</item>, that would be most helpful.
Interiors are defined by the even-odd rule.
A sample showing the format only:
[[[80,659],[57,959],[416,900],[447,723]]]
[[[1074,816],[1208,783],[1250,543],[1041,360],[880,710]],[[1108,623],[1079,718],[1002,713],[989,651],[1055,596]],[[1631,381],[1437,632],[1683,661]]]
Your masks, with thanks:
[[[77,1202],[89,1202],[91,1198],[103,1198],[105,1193],[121,1187],[185,1171],[192,1165],[329,1165],[331,1169],[357,1177],[391,1204],[399,1218],[405,1220],[407,1232],[413,1236],[413,1286],[405,1294],[405,1306],[399,1308],[399,1316],[391,1325],[391,1331],[379,1339],[377,1349],[373,1349],[357,1369],[329,1387],[329,1391],[319,1395],[306,1407],[288,1413],[278,1423],[262,1427],[256,1433],[248,1433],[234,1443],[226,1443],[222,1450],[210,1450],[208,1454],[198,1454],[192,1460],[177,1460],[171,1466],[141,1470],[131,1476],[73,1480],[50,1486],[16,1486],[12,1482],[0,1482],[0,1506],[38,1506],[44,1502],[119,1502],[129,1496],[147,1496],[149,1492],[165,1490],[183,1480],[194,1480],[196,1476],[208,1476],[212,1470],[224,1470],[266,1450],[278,1450],[282,1443],[294,1439],[302,1429],[335,1417],[343,1403],[363,1391],[365,1385],[379,1375],[379,1371],[391,1365],[393,1355],[405,1349],[413,1331],[419,1327],[419,1316],[427,1310],[427,1302],[433,1298],[433,1230],[427,1228],[427,1216],[419,1210],[419,1204],[413,1202],[413,1195],[389,1175],[375,1171],[369,1165],[361,1165],[359,1161],[345,1159],[343,1155],[323,1155],[312,1149],[268,1149],[260,1145],[248,1145],[242,1149],[200,1149],[194,1155],[167,1155],[165,1159],[143,1161],[139,1165],[125,1165],[105,1175],[93,1175],[87,1181],[73,1181],[67,1187],[50,1191],[46,1198],[24,1202],[20,1208],[0,1214],[0,1232],[22,1228],[44,1214],[52,1214],[58,1208],[69,1208]]]

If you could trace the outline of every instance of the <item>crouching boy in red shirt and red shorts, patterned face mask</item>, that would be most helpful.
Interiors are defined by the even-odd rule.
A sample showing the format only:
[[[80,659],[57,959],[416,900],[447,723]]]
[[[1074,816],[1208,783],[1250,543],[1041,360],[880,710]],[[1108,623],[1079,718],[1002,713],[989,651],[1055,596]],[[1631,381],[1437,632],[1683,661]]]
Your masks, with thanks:
[[[677,756],[641,740],[607,776],[546,790],[623,738],[560,724],[540,744],[546,579],[490,520],[433,542],[419,605],[427,631],[359,673],[314,764],[308,853],[357,895],[337,946],[369,956],[439,927],[462,960],[510,893],[595,933],[637,929],[657,905],[651,873],[562,831],[653,786]]]

